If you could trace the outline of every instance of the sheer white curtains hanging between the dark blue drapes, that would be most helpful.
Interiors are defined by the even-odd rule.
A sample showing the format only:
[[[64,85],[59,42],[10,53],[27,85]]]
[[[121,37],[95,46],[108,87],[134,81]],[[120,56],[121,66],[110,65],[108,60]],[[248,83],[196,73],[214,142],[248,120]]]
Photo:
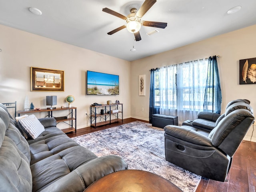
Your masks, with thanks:
[[[208,62],[197,60],[159,70],[160,114],[178,116],[181,124],[203,111]]]

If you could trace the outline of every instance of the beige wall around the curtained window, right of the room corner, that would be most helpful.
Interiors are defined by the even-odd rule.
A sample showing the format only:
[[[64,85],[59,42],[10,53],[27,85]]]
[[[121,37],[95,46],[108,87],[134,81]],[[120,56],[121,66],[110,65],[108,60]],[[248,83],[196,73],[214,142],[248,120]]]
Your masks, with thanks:
[[[256,110],[256,85],[239,85],[239,60],[256,57],[256,25],[176,48],[131,63],[131,115],[148,120],[151,68],[220,55],[218,67],[222,89],[222,113],[230,100],[246,98]],[[138,76],[146,74],[146,96],[138,96]],[[144,108],[144,111],[142,111]],[[250,140],[251,127],[245,139]],[[256,133],[253,138],[256,142]]]

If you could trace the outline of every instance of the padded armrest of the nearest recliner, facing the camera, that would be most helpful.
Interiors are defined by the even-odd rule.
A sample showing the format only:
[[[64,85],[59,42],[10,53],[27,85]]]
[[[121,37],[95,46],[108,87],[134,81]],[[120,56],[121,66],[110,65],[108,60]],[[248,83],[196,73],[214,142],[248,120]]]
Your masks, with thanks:
[[[210,138],[200,134],[193,127],[168,125],[164,127],[165,134],[200,146],[212,146]],[[202,131],[201,131],[202,132]]]

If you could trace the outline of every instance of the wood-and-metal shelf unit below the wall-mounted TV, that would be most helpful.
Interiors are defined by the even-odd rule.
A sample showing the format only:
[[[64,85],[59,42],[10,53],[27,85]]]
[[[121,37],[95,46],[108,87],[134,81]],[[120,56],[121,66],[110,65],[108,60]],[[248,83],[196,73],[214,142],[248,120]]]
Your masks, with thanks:
[[[100,110],[104,110],[104,114],[100,114]],[[98,127],[106,124],[111,124],[114,122],[118,122],[119,120],[123,122],[123,104],[103,104],[97,106],[90,106],[91,110],[91,127]],[[118,110],[118,112],[111,113],[112,110]],[[109,112],[109,113],[107,113]],[[98,121],[97,118],[103,121]]]

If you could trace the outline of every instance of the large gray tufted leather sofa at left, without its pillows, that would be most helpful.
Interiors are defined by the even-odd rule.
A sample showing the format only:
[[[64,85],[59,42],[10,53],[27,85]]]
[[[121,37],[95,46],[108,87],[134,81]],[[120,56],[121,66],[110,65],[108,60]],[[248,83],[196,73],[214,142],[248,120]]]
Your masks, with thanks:
[[[36,139],[25,139],[0,104],[2,192],[82,192],[99,178],[128,168],[118,156],[97,157],[74,142],[56,127],[54,118],[39,121],[44,131]]]

